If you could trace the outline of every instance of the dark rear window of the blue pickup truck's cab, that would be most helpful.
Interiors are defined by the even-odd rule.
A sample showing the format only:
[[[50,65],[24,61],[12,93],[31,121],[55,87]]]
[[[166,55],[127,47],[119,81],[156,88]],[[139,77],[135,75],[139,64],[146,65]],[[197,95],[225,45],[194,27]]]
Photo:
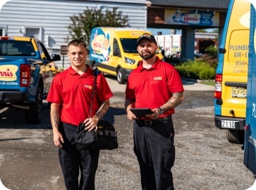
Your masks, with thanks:
[[[31,42],[0,40],[0,56],[35,56]]]

